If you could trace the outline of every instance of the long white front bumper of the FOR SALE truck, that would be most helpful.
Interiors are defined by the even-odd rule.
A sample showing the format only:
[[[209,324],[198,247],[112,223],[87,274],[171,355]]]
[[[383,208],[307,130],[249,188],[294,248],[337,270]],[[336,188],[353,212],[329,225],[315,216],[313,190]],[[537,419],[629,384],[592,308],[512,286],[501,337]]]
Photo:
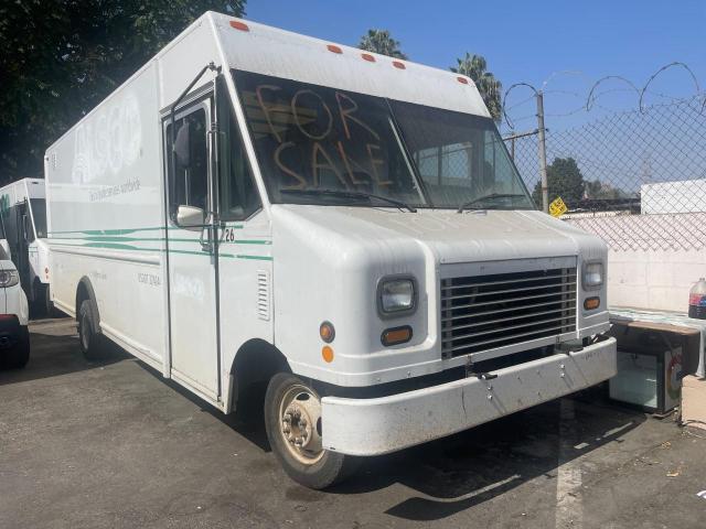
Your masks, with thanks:
[[[324,397],[324,449],[379,455],[450,435],[595,386],[614,376],[616,339],[477,377],[389,397]]]

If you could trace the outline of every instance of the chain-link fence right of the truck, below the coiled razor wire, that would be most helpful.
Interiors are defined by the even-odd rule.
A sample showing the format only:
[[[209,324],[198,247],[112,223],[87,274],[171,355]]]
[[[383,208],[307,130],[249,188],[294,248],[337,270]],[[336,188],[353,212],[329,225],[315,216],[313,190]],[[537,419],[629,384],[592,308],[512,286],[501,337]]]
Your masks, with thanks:
[[[613,250],[706,247],[706,99],[607,114],[546,131],[549,202]],[[542,204],[537,133],[506,138]]]

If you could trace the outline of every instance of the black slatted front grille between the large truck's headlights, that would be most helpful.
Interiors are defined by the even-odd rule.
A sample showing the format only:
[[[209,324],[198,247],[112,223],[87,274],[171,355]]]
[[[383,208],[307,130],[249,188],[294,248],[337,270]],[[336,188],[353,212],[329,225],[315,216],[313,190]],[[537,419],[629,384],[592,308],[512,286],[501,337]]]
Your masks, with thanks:
[[[441,281],[445,357],[575,330],[575,267]]]

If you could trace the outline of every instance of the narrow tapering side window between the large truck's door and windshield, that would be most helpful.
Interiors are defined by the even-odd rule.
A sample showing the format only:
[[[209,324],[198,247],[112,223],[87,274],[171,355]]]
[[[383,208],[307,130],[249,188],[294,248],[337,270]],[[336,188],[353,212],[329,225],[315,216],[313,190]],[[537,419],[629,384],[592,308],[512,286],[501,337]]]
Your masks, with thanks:
[[[225,95],[225,86],[221,93]],[[261,202],[233,108],[227,97],[218,102],[221,219],[245,220],[261,207]]]

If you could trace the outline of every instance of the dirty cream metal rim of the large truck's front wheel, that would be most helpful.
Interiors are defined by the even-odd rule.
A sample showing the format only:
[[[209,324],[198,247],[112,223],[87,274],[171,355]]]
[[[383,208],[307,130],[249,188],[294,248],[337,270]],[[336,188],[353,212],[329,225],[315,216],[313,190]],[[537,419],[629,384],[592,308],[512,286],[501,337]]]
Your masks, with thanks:
[[[313,465],[323,457],[320,429],[319,396],[304,385],[291,386],[279,402],[279,434],[299,463]]]

